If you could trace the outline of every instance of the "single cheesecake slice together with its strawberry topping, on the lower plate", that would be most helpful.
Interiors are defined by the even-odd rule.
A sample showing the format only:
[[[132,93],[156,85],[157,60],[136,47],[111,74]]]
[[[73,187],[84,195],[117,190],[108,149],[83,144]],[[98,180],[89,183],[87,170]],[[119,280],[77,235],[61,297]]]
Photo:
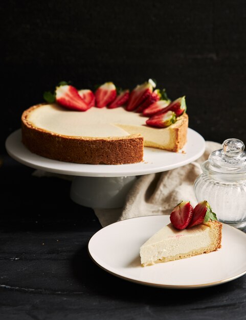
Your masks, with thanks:
[[[194,209],[189,201],[178,203],[170,221],[140,247],[142,266],[210,253],[221,247],[222,223],[206,200]]]

